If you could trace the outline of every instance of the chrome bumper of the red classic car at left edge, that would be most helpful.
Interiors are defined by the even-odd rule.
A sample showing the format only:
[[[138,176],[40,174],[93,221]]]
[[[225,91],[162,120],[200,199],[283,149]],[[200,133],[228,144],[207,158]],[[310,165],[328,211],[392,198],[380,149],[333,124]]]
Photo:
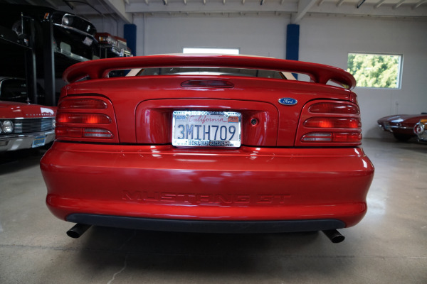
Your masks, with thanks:
[[[0,137],[0,152],[44,146],[55,140],[55,131],[11,134]]]

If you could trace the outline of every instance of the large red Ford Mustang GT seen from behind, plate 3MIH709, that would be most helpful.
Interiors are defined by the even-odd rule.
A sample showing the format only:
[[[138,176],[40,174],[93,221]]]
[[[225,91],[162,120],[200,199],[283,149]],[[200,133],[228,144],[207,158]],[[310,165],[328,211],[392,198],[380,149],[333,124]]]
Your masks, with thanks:
[[[124,69],[130,76],[108,77]],[[336,229],[367,212],[374,167],[359,147],[356,82],[344,70],[249,56],[152,55],[78,63],[63,78],[69,84],[57,139],[41,170],[48,208],[77,223],[69,236],[99,225],[322,230],[337,242]]]

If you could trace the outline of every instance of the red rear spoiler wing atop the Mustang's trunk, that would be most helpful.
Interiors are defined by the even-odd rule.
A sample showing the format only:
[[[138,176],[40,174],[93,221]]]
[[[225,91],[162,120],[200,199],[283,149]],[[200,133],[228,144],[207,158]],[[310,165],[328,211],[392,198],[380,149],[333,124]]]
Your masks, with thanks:
[[[260,58],[243,55],[149,55],[129,58],[107,58],[80,62],[68,67],[63,80],[73,83],[85,77],[90,79],[107,78],[112,70],[125,70],[150,67],[223,67],[275,70],[305,74],[310,82],[327,84],[332,81],[345,89],[353,89],[356,80],[340,68],[310,62]]]

